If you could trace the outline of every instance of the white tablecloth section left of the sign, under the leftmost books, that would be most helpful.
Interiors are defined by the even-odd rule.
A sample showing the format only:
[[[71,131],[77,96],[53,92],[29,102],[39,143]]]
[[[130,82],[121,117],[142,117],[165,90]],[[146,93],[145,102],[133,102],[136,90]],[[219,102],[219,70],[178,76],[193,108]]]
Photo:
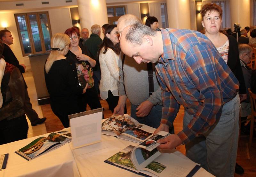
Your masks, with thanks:
[[[74,156],[68,144],[36,157],[30,161],[22,158],[15,151],[28,145],[38,137],[47,137],[49,133],[0,145],[0,154],[9,153],[6,169],[0,171],[0,177],[56,177],[80,176]]]

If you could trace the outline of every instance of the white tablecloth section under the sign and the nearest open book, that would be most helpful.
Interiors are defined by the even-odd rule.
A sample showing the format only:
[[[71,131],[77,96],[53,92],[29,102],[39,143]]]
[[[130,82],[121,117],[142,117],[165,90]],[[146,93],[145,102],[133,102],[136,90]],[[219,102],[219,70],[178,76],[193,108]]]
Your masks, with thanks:
[[[96,144],[73,148],[72,142],[69,143],[71,150],[73,151],[74,157],[76,159],[76,165],[78,167],[81,176],[92,177],[92,176],[140,176],[136,173],[118,168],[116,166],[105,163],[104,160],[108,159],[115,153],[124,149],[128,145],[138,145],[131,141],[126,141],[123,139],[118,139],[113,136],[102,135],[102,141]],[[181,152],[174,152],[176,155],[188,159]],[[189,159],[188,159],[189,160]],[[213,175],[208,173],[202,167],[194,175],[196,177],[212,177]]]

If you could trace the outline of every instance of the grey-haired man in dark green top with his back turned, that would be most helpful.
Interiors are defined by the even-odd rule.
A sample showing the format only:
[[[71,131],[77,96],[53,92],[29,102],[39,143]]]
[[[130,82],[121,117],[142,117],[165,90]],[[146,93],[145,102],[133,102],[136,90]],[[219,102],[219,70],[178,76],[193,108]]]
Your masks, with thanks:
[[[100,45],[102,44],[102,39],[100,38],[100,25],[92,25],[91,27],[91,36],[84,42],[84,45],[87,47],[89,52],[92,54],[92,59],[96,60],[96,66],[93,68],[93,79],[94,79],[94,86],[99,92],[99,83],[101,79],[100,73],[100,62],[98,57],[98,50]]]

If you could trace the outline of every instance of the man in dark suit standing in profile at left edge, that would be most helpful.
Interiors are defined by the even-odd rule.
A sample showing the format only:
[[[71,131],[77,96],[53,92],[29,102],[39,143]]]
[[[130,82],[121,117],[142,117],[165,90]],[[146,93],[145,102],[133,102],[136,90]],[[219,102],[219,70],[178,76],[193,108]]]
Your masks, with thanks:
[[[1,30],[0,31],[0,39],[4,43],[4,51],[3,51],[3,56],[4,60],[15,67],[18,67],[20,70],[20,73],[25,73],[25,65],[20,64],[14,53],[12,52],[12,49],[10,48],[10,45],[13,44],[13,37],[10,31],[8,30]],[[22,76],[23,77],[23,76]],[[24,80],[24,78],[23,78]],[[24,111],[26,115],[28,116],[28,119],[31,122],[32,126],[36,126],[37,124],[42,124],[46,120],[46,118],[39,118],[38,114],[36,113],[35,110],[32,108],[32,104],[30,103],[30,98],[28,96],[28,90],[27,90],[27,84],[24,80],[25,83],[25,103],[24,103]]]

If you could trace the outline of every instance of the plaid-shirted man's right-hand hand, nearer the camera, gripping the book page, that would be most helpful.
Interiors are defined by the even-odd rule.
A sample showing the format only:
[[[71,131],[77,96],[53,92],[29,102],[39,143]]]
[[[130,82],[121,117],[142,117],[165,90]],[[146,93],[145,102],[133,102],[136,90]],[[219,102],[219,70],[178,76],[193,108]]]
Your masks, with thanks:
[[[182,141],[178,135],[169,135],[164,139],[157,140],[157,143],[161,144],[157,147],[159,152],[171,153],[172,149],[181,145]]]

